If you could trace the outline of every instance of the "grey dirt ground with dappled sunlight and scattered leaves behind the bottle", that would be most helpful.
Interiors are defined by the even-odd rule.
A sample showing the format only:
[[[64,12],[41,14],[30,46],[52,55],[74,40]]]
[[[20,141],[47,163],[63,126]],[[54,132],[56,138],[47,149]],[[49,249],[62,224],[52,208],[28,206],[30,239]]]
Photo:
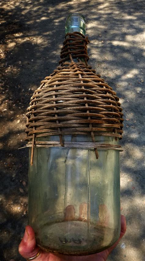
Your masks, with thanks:
[[[144,56],[143,1],[2,0],[0,261],[24,260],[18,245],[27,224],[26,109],[40,80],[57,67],[66,17],[86,18],[90,64],[121,99],[121,213],[127,232],[109,261],[143,261]],[[91,260],[91,259],[90,259]]]

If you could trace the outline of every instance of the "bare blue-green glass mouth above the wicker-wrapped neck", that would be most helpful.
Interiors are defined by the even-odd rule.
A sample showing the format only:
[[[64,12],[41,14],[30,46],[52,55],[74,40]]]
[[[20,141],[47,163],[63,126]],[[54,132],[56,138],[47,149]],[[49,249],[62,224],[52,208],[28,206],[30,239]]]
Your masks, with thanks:
[[[86,21],[82,14],[70,14],[66,19],[65,33],[80,32],[85,35]]]

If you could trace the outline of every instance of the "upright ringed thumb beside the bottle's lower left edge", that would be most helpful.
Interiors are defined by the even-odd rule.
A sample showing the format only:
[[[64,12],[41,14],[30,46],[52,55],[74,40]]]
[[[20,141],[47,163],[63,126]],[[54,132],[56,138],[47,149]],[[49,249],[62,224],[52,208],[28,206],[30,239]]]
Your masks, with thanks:
[[[32,227],[26,226],[24,237],[19,245],[19,253],[25,259],[37,255],[39,247],[36,246],[35,233]]]

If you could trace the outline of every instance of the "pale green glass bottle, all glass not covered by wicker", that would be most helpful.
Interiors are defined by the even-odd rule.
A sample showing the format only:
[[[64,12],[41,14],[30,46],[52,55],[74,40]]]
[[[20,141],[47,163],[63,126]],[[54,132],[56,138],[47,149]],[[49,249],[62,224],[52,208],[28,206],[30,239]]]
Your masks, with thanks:
[[[85,34],[80,14],[67,18],[66,33]],[[69,58],[68,58],[69,60]],[[59,141],[59,136],[37,138]],[[91,142],[90,135],[64,135],[64,141]],[[118,145],[119,138],[96,136]],[[31,157],[31,148],[29,149]],[[89,255],[103,251],[120,235],[120,166],[118,150],[36,147],[29,164],[28,224],[45,251]],[[29,157],[29,158],[30,158]]]

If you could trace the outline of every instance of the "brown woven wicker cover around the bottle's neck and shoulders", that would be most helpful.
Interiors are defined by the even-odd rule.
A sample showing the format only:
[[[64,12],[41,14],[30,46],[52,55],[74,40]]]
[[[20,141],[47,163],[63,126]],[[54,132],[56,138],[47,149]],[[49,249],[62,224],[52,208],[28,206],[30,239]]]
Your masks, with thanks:
[[[119,145],[95,142],[96,135],[122,138],[123,114],[116,92],[87,64],[88,42],[81,33],[67,33],[60,66],[31,98],[25,138],[27,146],[32,146],[31,164],[35,146],[94,147],[96,158],[97,147],[121,150]],[[91,134],[92,143],[63,142],[67,134]],[[36,141],[47,135],[59,135],[60,142]]]

